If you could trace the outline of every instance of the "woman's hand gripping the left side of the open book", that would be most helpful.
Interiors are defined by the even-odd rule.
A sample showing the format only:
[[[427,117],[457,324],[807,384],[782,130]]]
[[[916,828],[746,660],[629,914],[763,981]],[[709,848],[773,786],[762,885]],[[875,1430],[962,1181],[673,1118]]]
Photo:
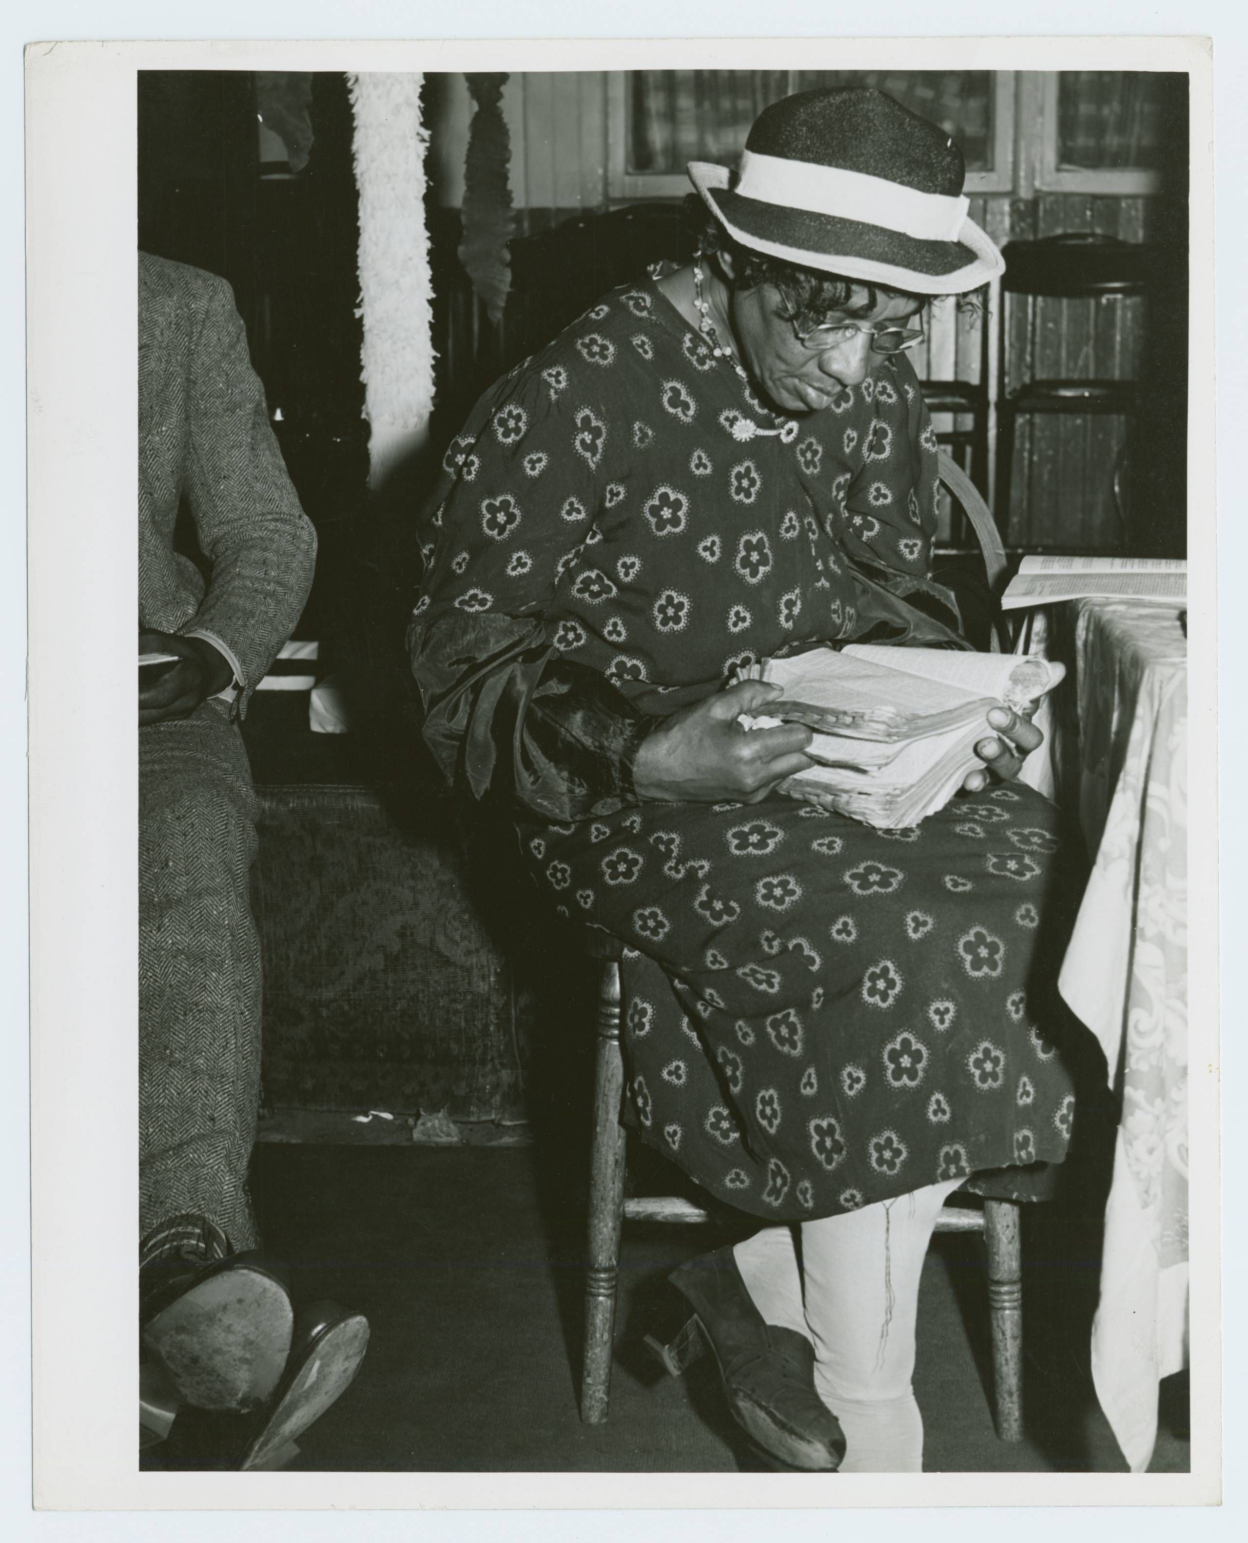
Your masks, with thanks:
[[[815,734],[804,724],[745,730],[742,713],[764,714],[781,687],[742,680],[673,713],[632,761],[639,798],[663,804],[757,804],[787,776],[815,765],[804,755]]]

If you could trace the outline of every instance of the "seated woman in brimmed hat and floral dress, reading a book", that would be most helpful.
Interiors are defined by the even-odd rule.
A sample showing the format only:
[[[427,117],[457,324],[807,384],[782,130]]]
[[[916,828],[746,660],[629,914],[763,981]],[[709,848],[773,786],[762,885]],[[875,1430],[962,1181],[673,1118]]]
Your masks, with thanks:
[[[1071,1133],[1037,986],[1054,810],[1003,781],[1040,734],[993,710],[955,802],[875,830],[777,795],[810,731],[747,734],[776,688],[731,682],[828,642],[967,647],[907,349],[1003,264],[960,150],[876,91],[788,97],[731,185],[690,174],[699,256],[606,295],[450,446],[412,667],[447,778],[625,944],[643,1140],[767,1224],[673,1278],[733,1413],[782,1466],[916,1470],[936,1213]]]

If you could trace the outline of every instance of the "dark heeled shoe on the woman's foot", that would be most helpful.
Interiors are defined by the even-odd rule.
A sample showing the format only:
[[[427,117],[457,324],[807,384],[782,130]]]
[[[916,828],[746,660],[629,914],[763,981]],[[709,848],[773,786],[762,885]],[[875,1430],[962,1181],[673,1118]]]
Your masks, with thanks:
[[[815,1390],[815,1349],[804,1335],[764,1321],[733,1250],[691,1259],[670,1279],[697,1315],[733,1418],[754,1446],[790,1469],[836,1472],[845,1437]]]

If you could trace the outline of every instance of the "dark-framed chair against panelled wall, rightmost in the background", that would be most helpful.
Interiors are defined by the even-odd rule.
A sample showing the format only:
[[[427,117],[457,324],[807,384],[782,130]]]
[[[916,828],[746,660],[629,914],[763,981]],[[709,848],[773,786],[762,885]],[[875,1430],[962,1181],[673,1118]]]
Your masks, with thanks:
[[[1004,248],[1006,273],[1001,289],[1006,295],[1021,295],[1027,301],[1027,355],[1035,358],[1037,301],[1097,299],[1122,302],[1143,295],[1148,287],[1151,252],[1135,242],[1095,233],[1044,236],[1040,241],[1010,241]],[[1007,356],[1009,316],[1003,306],[1001,358]],[[1014,440],[1020,414],[1095,414],[1100,417],[1132,417],[1137,404],[1137,383],[1106,378],[1044,378],[1027,380],[1003,393],[997,404],[997,523],[1009,529],[1010,477],[1014,471]],[[1128,509],[1123,491],[1126,475],[1126,440],[1114,463],[1114,508],[1123,537],[1128,532]]]

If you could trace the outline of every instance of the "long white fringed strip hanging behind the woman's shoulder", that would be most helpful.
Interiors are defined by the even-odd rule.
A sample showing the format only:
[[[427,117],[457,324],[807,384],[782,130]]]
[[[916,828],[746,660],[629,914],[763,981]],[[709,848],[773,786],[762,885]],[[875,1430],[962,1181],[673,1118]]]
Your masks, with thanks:
[[[369,480],[387,474],[424,443],[433,406],[432,279],[424,224],[420,74],[347,76],[355,111],[359,190],[361,380],[369,435]]]

